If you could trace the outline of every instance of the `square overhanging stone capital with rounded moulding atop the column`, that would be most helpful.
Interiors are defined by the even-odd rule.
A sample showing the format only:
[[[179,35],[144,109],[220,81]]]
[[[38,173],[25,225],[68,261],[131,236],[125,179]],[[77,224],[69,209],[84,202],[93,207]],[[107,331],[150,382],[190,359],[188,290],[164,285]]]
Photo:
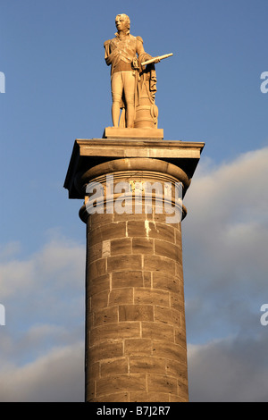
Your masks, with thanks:
[[[69,198],[84,198],[81,184],[93,174],[138,169],[170,173],[188,189],[204,146],[178,140],[76,139],[64,188]]]

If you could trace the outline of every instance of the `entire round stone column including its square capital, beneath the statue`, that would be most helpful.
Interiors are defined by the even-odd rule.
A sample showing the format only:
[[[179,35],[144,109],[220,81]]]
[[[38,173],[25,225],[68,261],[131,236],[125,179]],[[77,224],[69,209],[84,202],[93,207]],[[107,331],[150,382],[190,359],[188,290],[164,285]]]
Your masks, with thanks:
[[[188,400],[180,220],[171,222],[160,204],[167,186],[180,183],[184,197],[204,143],[159,141],[157,135],[118,139],[115,133],[77,139],[73,147],[64,187],[70,198],[85,200],[80,218],[87,224],[89,402]],[[102,212],[91,207],[90,214],[87,191],[93,182],[104,194]],[[130,185],[128,213],[119,182]],[[145,185],[158,188],[150,202]],[[185,217],[184,206],[180,210]]]

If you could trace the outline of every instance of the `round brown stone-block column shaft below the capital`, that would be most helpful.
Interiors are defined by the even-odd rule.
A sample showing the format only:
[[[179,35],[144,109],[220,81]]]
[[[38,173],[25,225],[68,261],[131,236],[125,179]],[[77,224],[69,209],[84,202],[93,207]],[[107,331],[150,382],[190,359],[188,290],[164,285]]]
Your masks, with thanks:
[[[114,175],[134,185],[171,181],[157,172]],[[151,214],[144,199],[142,214],[84,210],[87,401],[188,400],[180,222],[166,223],[170,214],[155,204]]]

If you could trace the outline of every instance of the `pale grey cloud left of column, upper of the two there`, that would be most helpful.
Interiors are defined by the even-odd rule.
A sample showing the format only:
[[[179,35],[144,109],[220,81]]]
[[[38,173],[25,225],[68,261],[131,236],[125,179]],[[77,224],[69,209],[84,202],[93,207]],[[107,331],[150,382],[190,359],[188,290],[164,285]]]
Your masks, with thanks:
[[[6,256],[11,247],[3,249]],[[49,288],[51,295],[71,288],[81,291],[84,285],[85,248],[70,239],[50,239],[38,252],[20,259],[13,255],[0,260],[0,297],[10,299]],[[75,280],[74,280],[75,279]]]

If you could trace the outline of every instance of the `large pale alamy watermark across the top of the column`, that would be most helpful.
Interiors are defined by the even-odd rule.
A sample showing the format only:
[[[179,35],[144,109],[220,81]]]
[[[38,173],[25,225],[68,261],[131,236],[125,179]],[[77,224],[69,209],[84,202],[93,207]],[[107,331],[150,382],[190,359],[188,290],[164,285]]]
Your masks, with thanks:
[[[166,214],[166,223],[180,223],[182,183],[120,181],[106,175],[105,184],[89,182],[86,194],[88,214]],[[155,203],[155,204],[154,204]]]

